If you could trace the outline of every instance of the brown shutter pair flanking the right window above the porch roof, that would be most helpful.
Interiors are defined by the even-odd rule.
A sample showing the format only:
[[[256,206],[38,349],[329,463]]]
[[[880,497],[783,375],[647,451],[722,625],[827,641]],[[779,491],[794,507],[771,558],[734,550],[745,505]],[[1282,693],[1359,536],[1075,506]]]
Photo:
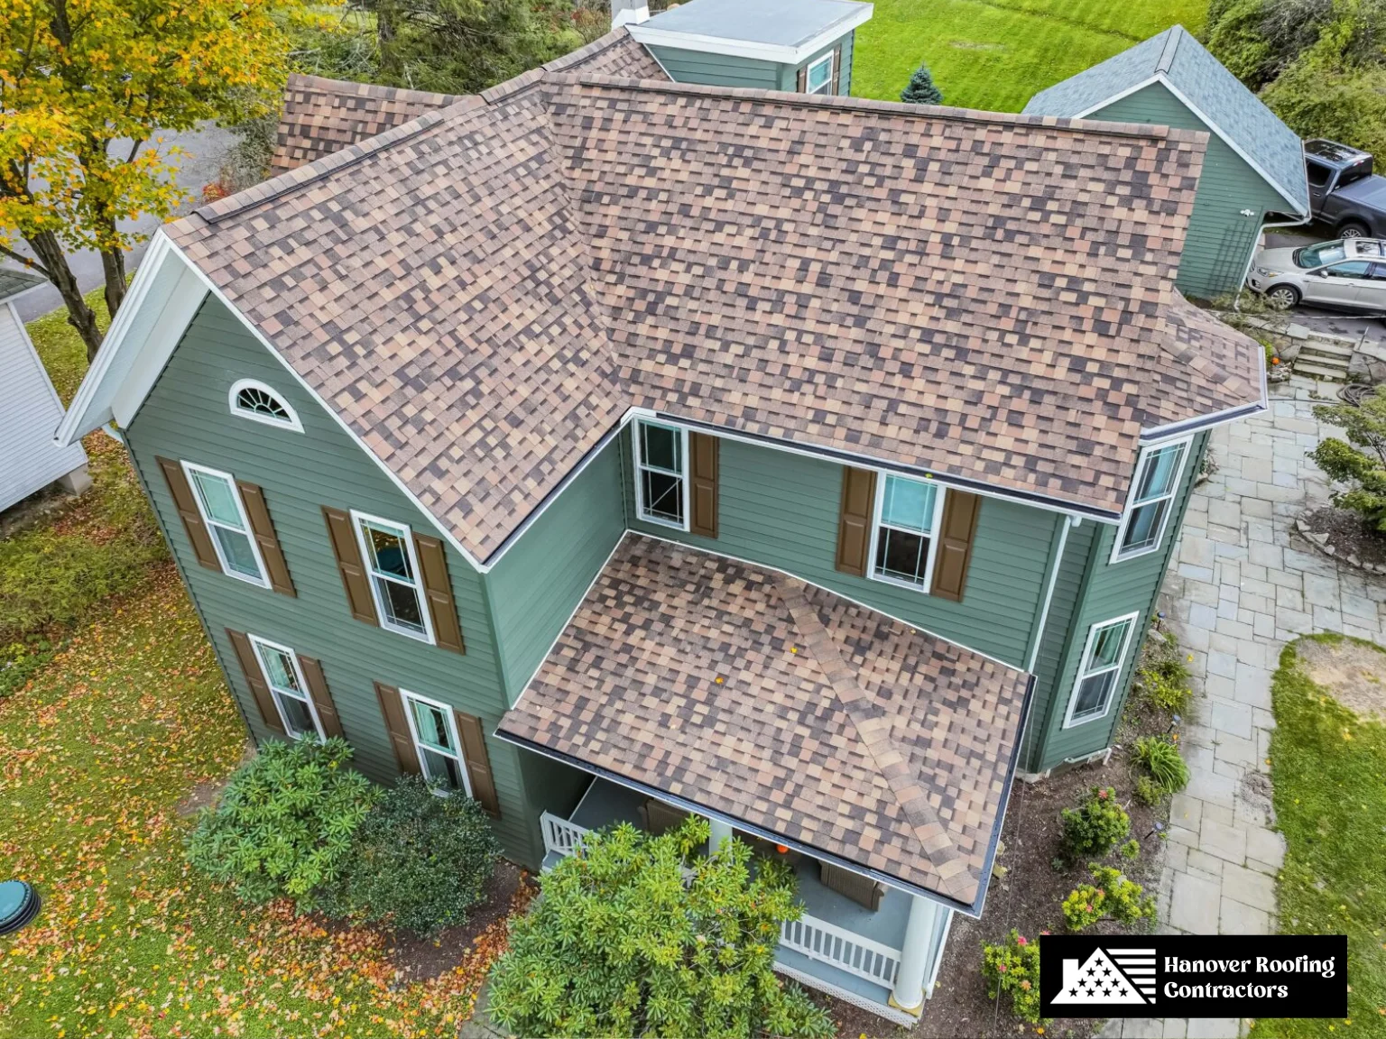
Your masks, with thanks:
[[[944,517],[934,549],[934,579],[930,594],[962,601],[967,585],[967,564],[972,561],[972,542],[977,532],[981,496],[948,488],[944,495]],[[873,470],[843,468],[843,499],[837,520],[837,569],[865,578],[870,560],[872,521],[876,511],[876,472]]]

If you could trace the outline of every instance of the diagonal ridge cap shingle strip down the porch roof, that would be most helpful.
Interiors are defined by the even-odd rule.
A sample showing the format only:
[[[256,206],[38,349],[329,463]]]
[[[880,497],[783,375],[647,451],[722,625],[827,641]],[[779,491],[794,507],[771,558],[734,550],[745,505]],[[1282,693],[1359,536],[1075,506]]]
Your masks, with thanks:
[[[823,669],[827,683],[833,687],[837,701],[843,705],[852,726],[857,729],[857,738],[866,754],[876,762],[876,769],[890,785],[891,792],[900,802],[905,820],[915,831],[915,838],[929,855],[929,862],[938,873],[942,885],[948,891],[959,888],[970,889],[976,881],[967,870],[967,863],[958,853],[956,845],[948,835],[924,788],[909,774],[905,755],[900,752],[890,738],[890,725],[881,718],[866,713],[865,707],[872,704],[872,698],[857,682],[851,666],[843,659],[833,643],[832,634],[823,625],[818,611],[805,598],[801,582],[783,574],[771,571],[771,579],[784,605],[789,608],[794,625],[798,628],[804,646],[814,652],[814,658]],[[960,882],[959,882],[960,881]]]

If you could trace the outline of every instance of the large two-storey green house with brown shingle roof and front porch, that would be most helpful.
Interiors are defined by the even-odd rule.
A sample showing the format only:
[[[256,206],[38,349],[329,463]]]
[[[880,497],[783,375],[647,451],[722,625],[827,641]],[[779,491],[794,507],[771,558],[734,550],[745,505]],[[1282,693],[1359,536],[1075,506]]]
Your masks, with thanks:
[[[256,744],[532,869],[703,815],[797,873],[786,977],[913,1024],[1013,783],[1110,748],[1263,352],[1173,287],[1202,134],[663,75],[621,28],[291,85],[57,439],[123,438]]]

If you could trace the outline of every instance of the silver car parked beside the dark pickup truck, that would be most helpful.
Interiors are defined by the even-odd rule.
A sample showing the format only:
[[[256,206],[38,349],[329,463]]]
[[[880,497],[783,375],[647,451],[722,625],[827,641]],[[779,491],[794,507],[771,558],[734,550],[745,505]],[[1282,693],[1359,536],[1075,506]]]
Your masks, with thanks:
[[[1386,310],[1386,242],[1343,238],[1299,249],[1261,249],[1246,284],[1282,310],[1301,301]]]

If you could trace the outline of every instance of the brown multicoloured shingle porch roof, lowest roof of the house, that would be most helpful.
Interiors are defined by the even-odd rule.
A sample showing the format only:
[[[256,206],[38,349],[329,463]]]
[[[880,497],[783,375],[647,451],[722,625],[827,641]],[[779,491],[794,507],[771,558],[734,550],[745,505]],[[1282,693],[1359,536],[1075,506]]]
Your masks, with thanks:
[[[498,734],[980,910],[1028,676],[625,535]]]

